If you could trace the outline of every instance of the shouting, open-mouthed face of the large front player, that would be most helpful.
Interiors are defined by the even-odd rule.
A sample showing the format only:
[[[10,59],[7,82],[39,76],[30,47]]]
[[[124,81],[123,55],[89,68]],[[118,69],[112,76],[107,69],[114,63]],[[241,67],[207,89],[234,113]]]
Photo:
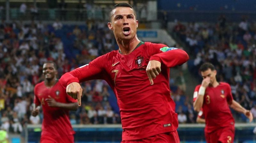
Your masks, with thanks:
[[[108,28],[113,30],[117,40],[129,40],[135,37],[138,27],[133,10],[129,7],[117,7],[113,10]]]

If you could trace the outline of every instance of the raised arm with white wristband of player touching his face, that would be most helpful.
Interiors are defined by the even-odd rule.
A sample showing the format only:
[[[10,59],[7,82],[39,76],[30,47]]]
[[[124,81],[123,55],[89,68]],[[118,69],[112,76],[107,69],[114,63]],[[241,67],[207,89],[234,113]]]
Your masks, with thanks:
[[[197,112],[199,112],[203,106],[205,89],[208,87],[209,83],[210,77],[206,77],[203,79],[201,86],[197,86],[197,88],[195,89],[193,107],[194,110]]]

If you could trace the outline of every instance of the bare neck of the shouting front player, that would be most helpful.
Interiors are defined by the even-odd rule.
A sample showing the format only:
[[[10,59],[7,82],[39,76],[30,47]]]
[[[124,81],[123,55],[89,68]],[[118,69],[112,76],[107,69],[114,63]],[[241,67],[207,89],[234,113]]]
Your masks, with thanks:
[[[117,41],[117,45],[119,47],[119,51],[123,55],[132,53],[132,51],[140,43],[140,40],[138,39],[137,35],[132,40],[116,39],[116,41]]]

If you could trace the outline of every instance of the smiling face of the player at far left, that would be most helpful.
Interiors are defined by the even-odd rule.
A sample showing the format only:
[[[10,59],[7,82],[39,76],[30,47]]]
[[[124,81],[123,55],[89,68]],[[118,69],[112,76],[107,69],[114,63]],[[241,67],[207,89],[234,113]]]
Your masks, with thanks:
[[[52,80],[53,78],[56,78],[57,70],[54,68],[54,65],[52,63],[45,63],[43,65],[43,75],[47,80]]]

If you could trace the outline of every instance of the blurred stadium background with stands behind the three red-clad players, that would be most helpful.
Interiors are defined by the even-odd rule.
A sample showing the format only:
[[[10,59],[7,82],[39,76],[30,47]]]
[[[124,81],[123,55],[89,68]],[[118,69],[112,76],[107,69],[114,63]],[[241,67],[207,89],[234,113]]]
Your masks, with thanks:
[[[218,81],[228,82],[234,99],[256,117],[255,0],[0,0],[0,125],[10,142],[39,142],[43,115],[32,117],[31,111],[45,61],[56,62],[60,78],[118,49],[107,22],[109,10],[121,2],[134,7],[140,40],[184,49],[190,56],[170,73],[181,142],[205,142],[192,100],[205,61],[216,66]],[[113,91],[102,80],[82,87],[82,106],[70,112],[76,143],[119,143]],[[235,142],[256,142],[255,119],[248,123],[232,112]]]

